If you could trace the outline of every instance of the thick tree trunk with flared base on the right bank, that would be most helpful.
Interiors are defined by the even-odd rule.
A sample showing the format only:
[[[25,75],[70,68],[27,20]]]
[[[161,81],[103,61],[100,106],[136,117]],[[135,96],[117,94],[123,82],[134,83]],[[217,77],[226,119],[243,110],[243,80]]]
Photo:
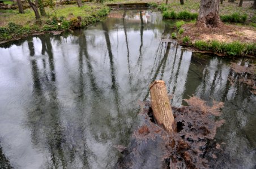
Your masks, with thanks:
[[[222,25],[219,14],[219,3],[220,0],[201,0],[197,26],[213,28]]]

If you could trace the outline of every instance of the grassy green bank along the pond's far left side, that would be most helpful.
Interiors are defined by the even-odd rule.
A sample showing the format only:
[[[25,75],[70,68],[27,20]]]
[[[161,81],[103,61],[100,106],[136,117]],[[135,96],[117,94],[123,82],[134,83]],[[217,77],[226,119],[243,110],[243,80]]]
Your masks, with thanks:
[[[81,28],[99,21],[110,11],[108,7],[95,3],[86,3],[80,8],[77,5],[63,5],[54,9],[46,7],[45,10],[47,16],[42,17],[39,24],[35,24],[32,9],[25,10],[25,14],[19,14],[18,10],[1,10],[0,41],[33,33]]]

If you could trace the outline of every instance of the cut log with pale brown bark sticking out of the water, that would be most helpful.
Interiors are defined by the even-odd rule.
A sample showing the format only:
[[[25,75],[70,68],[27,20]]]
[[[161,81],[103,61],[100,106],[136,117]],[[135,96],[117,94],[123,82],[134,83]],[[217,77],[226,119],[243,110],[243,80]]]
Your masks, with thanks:
[[[155,81],[150,84],[150,96],[153,117],[156,123],[162,126],[169,134],[174,132],[176,123],[164,81]]]

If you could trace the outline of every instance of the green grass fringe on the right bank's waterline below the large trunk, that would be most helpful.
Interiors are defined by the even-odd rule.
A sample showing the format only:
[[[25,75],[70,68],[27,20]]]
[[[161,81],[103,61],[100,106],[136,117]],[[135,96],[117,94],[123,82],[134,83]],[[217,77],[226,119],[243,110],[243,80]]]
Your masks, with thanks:
[[[189,32],[186,25],[194,24],[195,20],[192,20],[189,23],[186,23],[183,20],[177,21],[177,30],[176,32],[172,33],[172,38],[177,39],[180,45],[194,47],[200,51],[209,51],[216,54],[224,54],[229,56],[256,56],[256,42],[253,40],[251,42],[238,41],[237,39],[232,39],[233,37],[230,37],[230,41],[225,42],[224,39],[202,39],[197,36],[191,38],[195,33]],[[207,30],[199,30],[199,32],[202,32],[202,34],[204,34],[204,31]],[[239,35],[240,34],[237,34],[237,36]]]

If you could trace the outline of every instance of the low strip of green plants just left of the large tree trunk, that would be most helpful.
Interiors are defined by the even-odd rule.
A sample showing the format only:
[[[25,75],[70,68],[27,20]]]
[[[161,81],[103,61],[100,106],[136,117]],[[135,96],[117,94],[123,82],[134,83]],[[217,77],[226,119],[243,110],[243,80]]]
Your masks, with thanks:
[[[197,19],[197,13],[191,13],[187,11],[174,12],[174,11],[164,11],[163,18],[164,19]]]

